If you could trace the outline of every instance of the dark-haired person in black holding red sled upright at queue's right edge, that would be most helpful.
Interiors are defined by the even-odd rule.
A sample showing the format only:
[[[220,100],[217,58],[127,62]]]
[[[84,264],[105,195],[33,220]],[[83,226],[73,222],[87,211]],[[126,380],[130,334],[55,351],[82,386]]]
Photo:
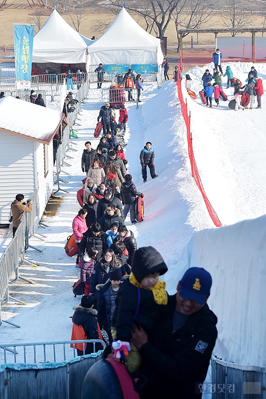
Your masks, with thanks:
[[[130,221],[132,225],[137,223],[135,218],[135,204],[137,196],[144,197],[142,192],[137,191],[135,184],[132,182],[132,176],[130,173],[125,175],[125,181],[121,186],[121,195],[124,206],[124,219],[130,211]]]

